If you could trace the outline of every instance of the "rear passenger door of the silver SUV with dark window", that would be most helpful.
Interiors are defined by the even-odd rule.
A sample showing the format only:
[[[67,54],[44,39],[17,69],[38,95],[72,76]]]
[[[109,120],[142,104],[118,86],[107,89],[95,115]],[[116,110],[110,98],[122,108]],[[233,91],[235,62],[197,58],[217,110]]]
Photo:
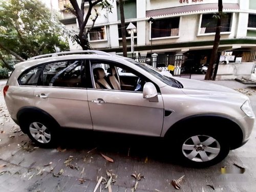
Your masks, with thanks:
[[[35,106],[63,127],[92,129],[83,60],[47,63],[34,90]]]

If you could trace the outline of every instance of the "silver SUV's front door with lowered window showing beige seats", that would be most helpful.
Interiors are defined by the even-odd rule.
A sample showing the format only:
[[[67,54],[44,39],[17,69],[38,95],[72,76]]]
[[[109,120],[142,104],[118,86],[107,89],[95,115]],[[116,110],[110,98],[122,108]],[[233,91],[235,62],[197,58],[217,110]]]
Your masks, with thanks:
[[[116,79],[121,83],[118,77],[118,68],[114,62],[94,60],[91,61],[92,71],[95,69],[94,66],[103,68],[105,71],[103,78],[110,84],[110,87],[112,86],[108,76],[111,74],[108,73],[109,70],[106,70],[108,68],[116,70]],[[137,75],[134,76],[139,78]],[[149,99],[143,98],[142,89],[131,91],[137,87],[133,82],[134,80],[131,80],[130,84],[127,84],[129,81],[125,82],[125,86],[121,84],[121,90],[114,90],[113,88],[106,89],[106,86],[96,89],[95,83],[97,81],[95,78],[97,77],[92,78],[95,80],[93,82],[94,88],[88,89],[88,101],[94,130],[160,136],[164,116],[163,100],[160,93],[158,94],[158,102],[151,102]],[[142,87],[145,83],[143,79],[145,78],[142,76],[138,79]],[[130,91],[125,90],[127,86]]]

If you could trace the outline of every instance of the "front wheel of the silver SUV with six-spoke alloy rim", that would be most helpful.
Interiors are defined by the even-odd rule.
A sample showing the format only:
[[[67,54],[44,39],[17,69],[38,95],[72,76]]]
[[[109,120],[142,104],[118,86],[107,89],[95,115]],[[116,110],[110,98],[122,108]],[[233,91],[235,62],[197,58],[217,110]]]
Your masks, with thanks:
[[[224,136],[208,131],[184,132],[179,134],[181,137],[173,138],[173,144],[175,154],[185,166],[200,168],[215,165],[229,153],[228,140]]]

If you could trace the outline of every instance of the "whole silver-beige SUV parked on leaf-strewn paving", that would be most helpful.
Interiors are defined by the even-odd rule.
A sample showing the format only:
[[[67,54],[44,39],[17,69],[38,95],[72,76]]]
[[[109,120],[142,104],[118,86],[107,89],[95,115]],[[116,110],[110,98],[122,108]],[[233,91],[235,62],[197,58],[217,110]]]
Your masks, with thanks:
[[[42,147],[64,127],[164,137],[169,154],[194,166],[216,164],[246,143],[255,118],[248,97],[232,89],[100,51],[18,63],[4,96],[12,119]]]

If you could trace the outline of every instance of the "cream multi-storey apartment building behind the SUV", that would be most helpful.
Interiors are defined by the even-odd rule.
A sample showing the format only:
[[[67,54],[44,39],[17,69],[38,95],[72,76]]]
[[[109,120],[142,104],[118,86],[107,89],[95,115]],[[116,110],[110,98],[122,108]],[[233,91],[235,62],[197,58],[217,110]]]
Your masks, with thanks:
[[[112,3],[111,0],[110,2]],[[68,0],[58,0],[58,8],[63,15],[61,22],[67,28],[77,30],[75,16],[64,11],[63,6],[67,4]],[[119,1],[113,1],[112,13],[101,10],[100,7],[97,10],[100,15],[89,34],[92,48],[121,55]],[[218,0],[126,0],[125,24],[128,26],[132,23],[136,27],[134,38],[131,39],[131,34],[126,33],[128,55],[150,57],[152,53],[157,53],[158,64],[165,66],[205,64],[209,61],[214,42],[217,23],[214,14],[217,12]],[[222,73],[231,75],[239,71],[241,74],[238,72],[237,75],[243,75],[245,69],[246,73],[250,71],[255,60],[256,2],[223,0],[223,12],[225,16],[221,28],[220,61],[232,63],[232,66],[236,63],[239,65],[223,65]],[[94,15],[93,12],[92,17]],[[88,27],[90,25],[92,20]],[[134,41],[133,53],[131,40]],[[71,41],[70,48],[81,49]]]

